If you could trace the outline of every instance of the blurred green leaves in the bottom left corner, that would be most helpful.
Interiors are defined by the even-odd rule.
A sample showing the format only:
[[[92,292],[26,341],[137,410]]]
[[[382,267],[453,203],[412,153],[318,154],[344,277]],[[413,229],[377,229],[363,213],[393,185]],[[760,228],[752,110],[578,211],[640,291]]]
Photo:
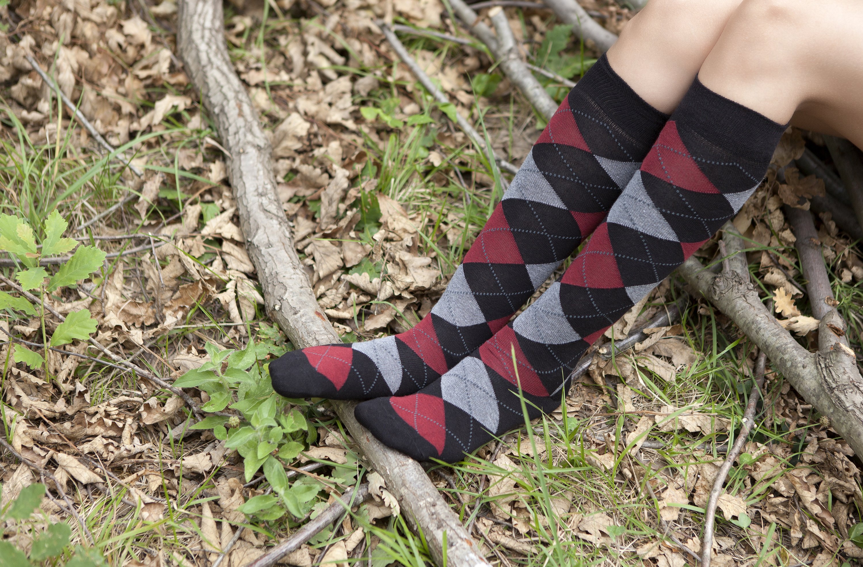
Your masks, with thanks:
[[[22,488],[18,497],[0,513],[0,520],[27,520],[39,507],[44,495],[44,484],[36,483]],[[45,531],[33,540],[29,557],[9,541],[0,540],[0,564],[11,567],[31,567],[34,563],[41,564],[60,556],[69,545],[71,538],[72,529],[68,524],[64,522],[48,524]],[[66,562],[66,567],[98,567],[104,564],[104,558],[97,550],[76,545],[75,553]]]

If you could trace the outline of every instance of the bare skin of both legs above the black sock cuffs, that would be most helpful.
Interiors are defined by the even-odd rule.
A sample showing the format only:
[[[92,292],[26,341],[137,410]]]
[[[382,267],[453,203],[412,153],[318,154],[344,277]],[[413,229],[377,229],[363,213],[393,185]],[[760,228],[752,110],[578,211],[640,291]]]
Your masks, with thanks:
[[[863,148],[859,0],[650,0],[608,51],[614,70],[671,113],[696,75],[778,123]]]

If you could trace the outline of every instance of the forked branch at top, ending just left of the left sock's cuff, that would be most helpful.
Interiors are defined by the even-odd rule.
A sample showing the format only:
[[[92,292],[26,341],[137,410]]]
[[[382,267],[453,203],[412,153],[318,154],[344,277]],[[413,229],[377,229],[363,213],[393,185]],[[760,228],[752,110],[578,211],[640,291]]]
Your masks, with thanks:
[[[532,75],[525,62],[521,60],[518,47],[515,45],[513,29],[509,27],[507,15],[500,8],[489,10],[497,36],[484,22],[480,22],[479,16],[463,2],[463,0],[449,0],[453,11],[458,18],[469,28],[470,33],[476,35],[482,43],[486,44],[488,51],[498,60],[501,69],[509,80],[519,87],[525,98],[545,117],[551,120],[557,111],[557,103],[549,96],[539,81]]]

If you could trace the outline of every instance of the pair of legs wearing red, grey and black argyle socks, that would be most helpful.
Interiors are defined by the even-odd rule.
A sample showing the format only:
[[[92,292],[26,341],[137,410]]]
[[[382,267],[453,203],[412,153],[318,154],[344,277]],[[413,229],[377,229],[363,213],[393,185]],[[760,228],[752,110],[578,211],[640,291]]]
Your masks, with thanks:
[[[861,21],[853,1],[814,16]],[[289,353],[270,365],[276,391],[369,400],[356,416],[377,438],[448,461],[523,423],[521,394],[532,415],[556,407],[589,344],[740,209],[785,123],[860,138],[849,118],[863,104],[841,97],[860,40],[831,29],[843,48],[809,61],[801,35],[818,26],[803,8],[652,0],[561,104],[431,314],[399,336]],[[849,68],[823,71],[834,63]]]

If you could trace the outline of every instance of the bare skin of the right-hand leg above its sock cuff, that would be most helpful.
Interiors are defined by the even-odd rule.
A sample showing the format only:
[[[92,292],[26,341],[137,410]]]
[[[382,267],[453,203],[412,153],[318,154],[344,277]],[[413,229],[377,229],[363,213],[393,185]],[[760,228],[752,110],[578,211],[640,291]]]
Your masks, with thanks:
[[[863,4],[744,0],[704,61],[709,89],[863,147]]]

